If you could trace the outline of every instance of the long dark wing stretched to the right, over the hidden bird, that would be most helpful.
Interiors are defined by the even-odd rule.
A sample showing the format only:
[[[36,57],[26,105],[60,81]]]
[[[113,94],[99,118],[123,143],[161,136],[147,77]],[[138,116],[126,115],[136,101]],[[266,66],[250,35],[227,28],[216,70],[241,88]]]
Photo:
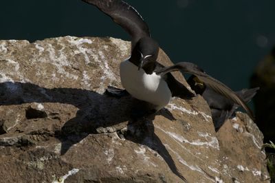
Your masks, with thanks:
[[[164,67],[162,69],[157,70],[156,74],[165,75],[168,72],[174,72],[174,71],[182,71],[188,74],[194,74],[205,85],[208,85],[208,87],[212,88],[218,94],[225,96],[226,98],[232,100],[234,103],[243,107],[243,109],[245,109],[245,111],[248,112],[248,115],[250,116],[250,118],[252,119],[254,118],[251,109],[248,107],[248,105],[246,105],[246,103],[243,101],[242,98],[236,95],[236,93],[233,92],[232,89],[230,89],[229,87],[221,83],[219,80],[212,78],[211,76],[203,72],[202,69],[200,69],[197,65],[193,63],[188,63],[188,62],[177,63],[170,67]]]

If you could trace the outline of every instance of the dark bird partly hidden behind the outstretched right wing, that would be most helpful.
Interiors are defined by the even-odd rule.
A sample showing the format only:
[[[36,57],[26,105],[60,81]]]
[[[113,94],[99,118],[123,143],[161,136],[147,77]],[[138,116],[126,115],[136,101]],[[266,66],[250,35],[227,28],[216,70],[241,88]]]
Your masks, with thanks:
[[[215,92],[195,75],[190,76],[187,83],[196,94],[200,94],[206,100],[211,109],[215,130],[219,131],[219,128],[223,125],[225,120],[234,116],[234,111],[239,107],[239,105],[234,103],[233,100],[229,100],[228,98],[225,98],[225,96]],[[242,89],[241,91],[235,92],[235,94],[245,103],[248,103],[256,95],[256,92],[259,89],[259,87]]]

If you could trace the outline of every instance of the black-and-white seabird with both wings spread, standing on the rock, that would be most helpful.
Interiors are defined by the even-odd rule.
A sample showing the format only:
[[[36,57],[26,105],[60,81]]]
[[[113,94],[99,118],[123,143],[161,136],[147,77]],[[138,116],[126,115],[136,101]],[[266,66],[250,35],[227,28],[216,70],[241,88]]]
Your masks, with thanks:
[[[150,103],[154,106],[155,111],[165,107],[173,96],[193,97],[195,94],[170,74],[170,72],[182,71],[197,76],[215,92],[243,107],[248,111],[250,117],[253,116],[252,111],[242,98],[219,80],[203,72],[197,65],[185,62],[164,67],[158,63],[156,60],[159,45],[151,38],[148,25],[144,19],[128,3],[120,0],[83,1],[96,6],[131,35],[131,57],[120,64],[122,86],[131,96]],[[119,93],[119,91],[112,91],[112,89],[109,92]]]

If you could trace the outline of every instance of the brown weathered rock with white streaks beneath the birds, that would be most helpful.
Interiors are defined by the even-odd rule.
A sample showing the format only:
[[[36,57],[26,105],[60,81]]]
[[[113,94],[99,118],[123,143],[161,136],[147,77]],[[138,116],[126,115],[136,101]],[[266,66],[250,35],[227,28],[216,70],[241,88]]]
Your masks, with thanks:
[[[218,133],[206,102],[144,103],[104,95],[120,85],[129,42],[61,37],[0,41],[0,182],[261,182],[263,136],[238,113]],[[159,60],[172,64],[161,52]],[[185,82],[181,74],[177,78]]]

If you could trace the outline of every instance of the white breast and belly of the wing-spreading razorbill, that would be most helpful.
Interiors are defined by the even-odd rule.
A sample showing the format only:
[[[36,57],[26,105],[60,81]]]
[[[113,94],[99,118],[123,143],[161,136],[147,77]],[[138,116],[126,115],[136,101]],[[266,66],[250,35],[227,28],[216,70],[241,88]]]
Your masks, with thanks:
[[[120,64],[120,79],[123,87],[133,97],[155,105],[159,110],[166,106],[171,92],[164,79],[155,74],[146,74],[143,69],[126,60]]]

